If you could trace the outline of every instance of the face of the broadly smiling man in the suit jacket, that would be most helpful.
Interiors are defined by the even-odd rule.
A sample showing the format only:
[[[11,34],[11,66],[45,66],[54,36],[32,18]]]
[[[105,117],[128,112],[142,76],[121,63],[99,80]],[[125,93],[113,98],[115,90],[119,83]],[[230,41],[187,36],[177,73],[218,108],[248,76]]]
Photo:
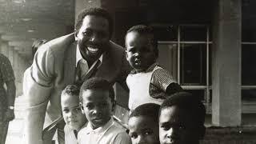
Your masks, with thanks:
[[[94,62],[107,49],[110,41],[109,22],[106,18],[86,15],[80,30],[75,31],[82,57]]]

